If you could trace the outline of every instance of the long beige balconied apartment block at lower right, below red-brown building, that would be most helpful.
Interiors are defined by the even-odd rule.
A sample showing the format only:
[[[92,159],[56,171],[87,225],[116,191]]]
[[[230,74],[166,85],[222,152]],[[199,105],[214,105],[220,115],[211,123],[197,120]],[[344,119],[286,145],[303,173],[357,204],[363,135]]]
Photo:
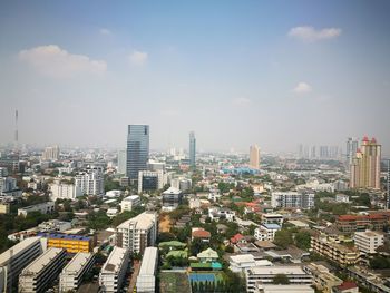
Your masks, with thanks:
[[[359,251],[335,243],[325,236],[311,237],[310,247],[313,252],[333,260],[341,266],[353,265],[359,260]]]

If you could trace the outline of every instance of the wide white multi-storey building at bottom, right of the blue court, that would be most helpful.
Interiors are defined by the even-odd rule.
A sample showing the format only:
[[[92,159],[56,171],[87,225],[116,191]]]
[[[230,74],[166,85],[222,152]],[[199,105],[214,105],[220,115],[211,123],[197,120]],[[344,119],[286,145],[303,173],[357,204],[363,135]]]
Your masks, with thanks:
[[[256,292],[256,285],[271,285],[275,275],[284,274],[291,285],[311,285],[313,277],[299,265],[254,266],[245,272],[246,292]]]

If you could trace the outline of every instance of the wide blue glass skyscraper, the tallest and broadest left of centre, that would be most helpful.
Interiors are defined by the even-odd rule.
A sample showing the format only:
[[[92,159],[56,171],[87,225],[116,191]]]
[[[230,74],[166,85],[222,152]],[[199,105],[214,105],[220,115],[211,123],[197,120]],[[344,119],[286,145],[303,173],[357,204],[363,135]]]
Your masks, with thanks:
[[[138,172],[147,169],[149,159],[149,126],[129,125],[127,133],[126,175],[138,179]]]

